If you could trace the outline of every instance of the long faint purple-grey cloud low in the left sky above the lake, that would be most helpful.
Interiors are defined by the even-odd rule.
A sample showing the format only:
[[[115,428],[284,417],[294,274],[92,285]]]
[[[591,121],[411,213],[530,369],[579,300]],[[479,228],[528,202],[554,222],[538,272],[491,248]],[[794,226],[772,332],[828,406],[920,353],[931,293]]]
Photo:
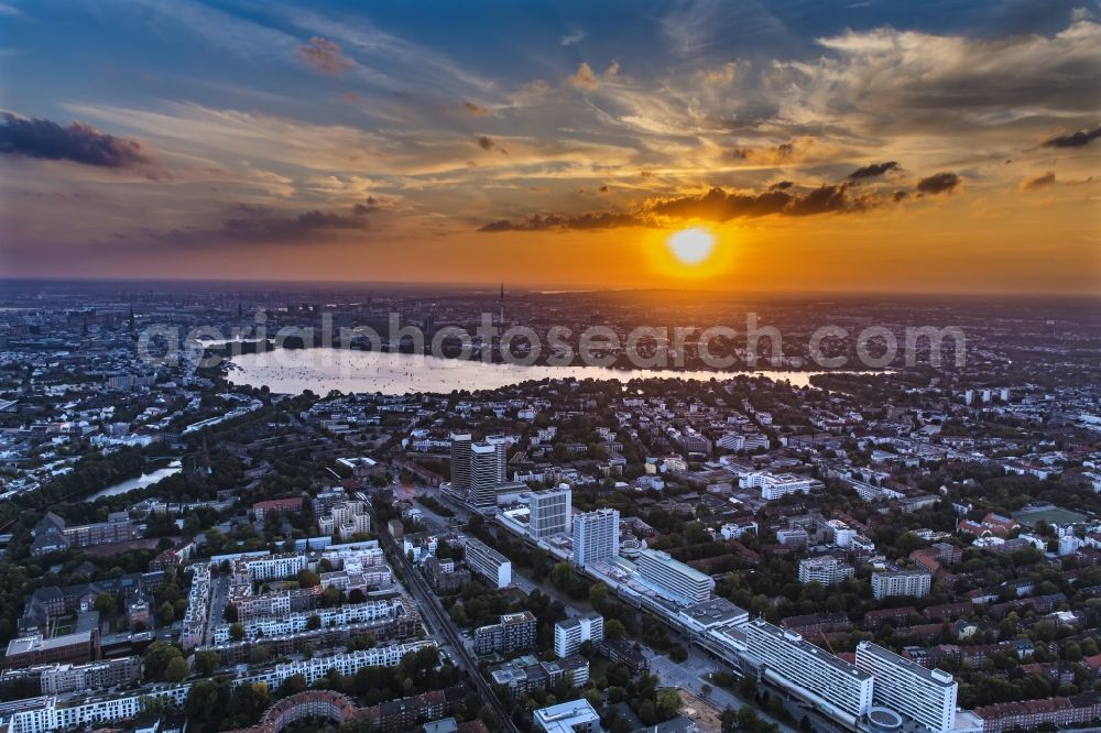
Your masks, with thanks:
[[[216,229],[173,229],[155,234],[155,239],[170,244],[298,242],[323,232],[366,229],[364,215],[373,210],[370,200],[368,206],[357,204],[353,216],[316,209],[287,216],[255,207],[239,207],[240,216],[226,219]]]

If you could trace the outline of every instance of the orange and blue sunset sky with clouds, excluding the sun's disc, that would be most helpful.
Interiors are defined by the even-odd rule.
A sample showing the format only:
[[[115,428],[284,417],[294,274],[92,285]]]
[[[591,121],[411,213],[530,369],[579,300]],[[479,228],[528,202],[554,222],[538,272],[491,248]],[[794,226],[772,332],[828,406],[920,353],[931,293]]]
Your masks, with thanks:
[[[0,0],[0,275],[1098,294],[1099,23]]]

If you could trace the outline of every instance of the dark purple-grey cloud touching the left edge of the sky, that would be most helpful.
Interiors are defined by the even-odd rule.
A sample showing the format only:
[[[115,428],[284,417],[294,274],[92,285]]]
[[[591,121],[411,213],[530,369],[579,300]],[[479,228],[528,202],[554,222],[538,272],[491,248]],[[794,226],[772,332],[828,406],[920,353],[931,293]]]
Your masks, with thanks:
[[[46,161],[72,161],[105,168],[130,168],[149,163],[135,140],[99,132],[90,124],[0,112],[0,153]]]

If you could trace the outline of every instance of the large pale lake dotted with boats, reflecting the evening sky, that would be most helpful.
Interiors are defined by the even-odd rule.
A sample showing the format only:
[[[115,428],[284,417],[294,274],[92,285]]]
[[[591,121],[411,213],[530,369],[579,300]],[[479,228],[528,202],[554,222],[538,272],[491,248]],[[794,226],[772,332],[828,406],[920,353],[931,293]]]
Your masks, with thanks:
[[[620,382],[654,378],[708,381],[748,374],[784,380],[794,386],[808,386],[810,378],[821,373],[824,372],[783,370],[715,372],[669,369],[629,371],[601,366],[522,366],[411,353],[316,348],[281,349],[268,353],[233,357],[228,379],[232,384],[247,384],[253,387],[266,384],[268,389],[276,394],[299,394],[310,390],[315,394],[325,395],[333,390],[339,390],[346,394],[380,392],[402,395],[415,392],[446,394],[453,390],[471,392],[497,390],[527,380],[567,378]]]

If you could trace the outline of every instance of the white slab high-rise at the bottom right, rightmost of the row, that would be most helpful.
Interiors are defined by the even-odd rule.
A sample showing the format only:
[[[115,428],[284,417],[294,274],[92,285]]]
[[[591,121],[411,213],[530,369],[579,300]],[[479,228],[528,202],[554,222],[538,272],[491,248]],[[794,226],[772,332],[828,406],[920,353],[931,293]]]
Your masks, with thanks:
[[[873,701],[934,733],[952,730],[959,685],[940,669],[925,667],[871,642],[857,645],[857,668],[875,679]]]

